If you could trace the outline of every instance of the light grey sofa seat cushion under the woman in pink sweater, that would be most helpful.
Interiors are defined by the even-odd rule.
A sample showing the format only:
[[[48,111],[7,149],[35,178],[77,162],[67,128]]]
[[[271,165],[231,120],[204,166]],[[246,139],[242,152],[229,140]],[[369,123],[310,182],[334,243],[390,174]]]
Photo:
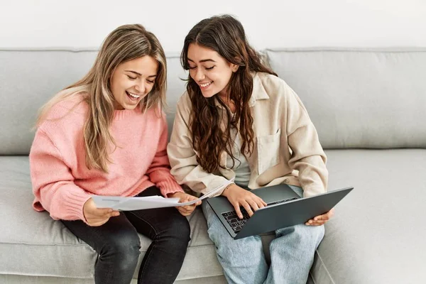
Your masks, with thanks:
[[[0,274],[92,278],[97,253],[48,212],[31,207],[28,156],[0,156],[0,180]],[[201,209],[188,218],[191,241],[178,280],[222,275]],[[139,263],[151,244],[140,237]]]

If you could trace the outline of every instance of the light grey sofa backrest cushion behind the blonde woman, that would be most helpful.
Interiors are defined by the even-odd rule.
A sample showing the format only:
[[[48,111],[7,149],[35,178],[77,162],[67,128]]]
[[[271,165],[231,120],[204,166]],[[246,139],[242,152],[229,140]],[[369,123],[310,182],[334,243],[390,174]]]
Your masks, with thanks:
[[[97,50],[0,50],[0,155],[28,155],[38,109],[92,67]],[[187,77],[178,55],[168,62],[168,125]]]

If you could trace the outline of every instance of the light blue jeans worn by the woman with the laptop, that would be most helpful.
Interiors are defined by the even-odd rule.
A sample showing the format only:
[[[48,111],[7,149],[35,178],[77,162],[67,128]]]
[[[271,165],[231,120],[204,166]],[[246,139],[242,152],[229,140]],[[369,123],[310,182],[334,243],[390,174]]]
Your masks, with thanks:
[[[302,195],[300,187],[293,187]],[[202,202],[210,239],[230,284],[306,284],[314,253],[324,237],[324,226],[299,224],[275,231],[271,266],[266,263],[260,236],[234,240],[207,202]]]

